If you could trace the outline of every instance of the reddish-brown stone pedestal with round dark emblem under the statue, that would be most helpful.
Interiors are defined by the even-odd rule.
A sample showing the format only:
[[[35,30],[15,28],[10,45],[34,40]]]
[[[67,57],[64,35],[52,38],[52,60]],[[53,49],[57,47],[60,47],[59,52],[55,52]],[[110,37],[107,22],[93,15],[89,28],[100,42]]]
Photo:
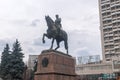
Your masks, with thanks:
[[[44,50],[38,57],[35,80],[75,80],[75,60],[54,50]]]

